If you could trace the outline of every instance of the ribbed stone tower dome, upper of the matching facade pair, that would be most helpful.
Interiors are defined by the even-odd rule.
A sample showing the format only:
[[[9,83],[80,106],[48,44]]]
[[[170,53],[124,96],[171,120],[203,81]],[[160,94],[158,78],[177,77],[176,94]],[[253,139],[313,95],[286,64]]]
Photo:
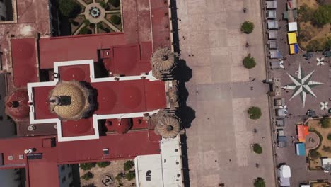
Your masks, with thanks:
[[[158,49],[151,57],[151,64],[158,71],[169,71],[175,66],[175,55],[168,48]]]

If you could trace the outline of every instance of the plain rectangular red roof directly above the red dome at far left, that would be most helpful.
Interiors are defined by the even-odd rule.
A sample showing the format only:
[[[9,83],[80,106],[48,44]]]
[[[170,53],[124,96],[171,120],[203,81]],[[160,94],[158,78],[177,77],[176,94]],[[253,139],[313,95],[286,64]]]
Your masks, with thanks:
[[[13,84],[16,88],[26,87],[38,81],[37,52],[35,38],[11,40],[13,61]]]

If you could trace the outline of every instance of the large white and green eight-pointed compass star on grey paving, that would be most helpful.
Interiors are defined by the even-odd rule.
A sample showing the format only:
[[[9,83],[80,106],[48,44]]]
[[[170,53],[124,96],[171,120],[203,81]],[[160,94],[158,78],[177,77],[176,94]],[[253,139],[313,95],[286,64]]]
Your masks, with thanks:
[[[310,94],[310,95],[316,97],[312,88],[315,86],[318,86],[320,84],[323,84],[323,83],[318,82],[318,81],[311,81],[311,77],[313,77],[314,72],[315,72],[315,70],[313,72],[310,72],[310,74],[304,75],[302,72],[301,64],[299,64],[298,72],[296,72],[296,74],[297,74],[296,77],[294,75],[287,73],[289,75],[292,83],[282,86],[282,88],[294,90],[293,94],[289,100],[291,100],[295,96],[299,95],[301,98],[301,101],[303,103],[303,106],[305,106],[307,94]]]

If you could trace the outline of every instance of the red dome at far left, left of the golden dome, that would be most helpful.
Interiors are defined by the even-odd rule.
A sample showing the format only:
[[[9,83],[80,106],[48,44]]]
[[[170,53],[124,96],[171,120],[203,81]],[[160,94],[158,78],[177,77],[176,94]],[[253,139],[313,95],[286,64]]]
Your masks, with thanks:
[[[28,106],[28,91],[14,91],[6,101],[6,111],[14,119],[23,119],[29,117],[30,108]]]

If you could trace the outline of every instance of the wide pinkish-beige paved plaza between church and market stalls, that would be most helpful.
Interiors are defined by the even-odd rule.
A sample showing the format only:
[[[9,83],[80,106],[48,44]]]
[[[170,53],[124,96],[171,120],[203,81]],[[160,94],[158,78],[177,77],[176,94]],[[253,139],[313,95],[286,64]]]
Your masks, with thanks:
[[[181,0],[177,6],[180,58],[192,69],[185,83],[186,104],[195,111],[187,129],[190,186],[252,186],[257,177],[275,186],[260,1]],[[240,32],[246,20],[255,23],[250,35]],[[257,62],[250,70],[242,64],[249,53]],[[250,120],[250,106],[259,106],[262,118]],[[253,143],[262,154],[251,151]]]

